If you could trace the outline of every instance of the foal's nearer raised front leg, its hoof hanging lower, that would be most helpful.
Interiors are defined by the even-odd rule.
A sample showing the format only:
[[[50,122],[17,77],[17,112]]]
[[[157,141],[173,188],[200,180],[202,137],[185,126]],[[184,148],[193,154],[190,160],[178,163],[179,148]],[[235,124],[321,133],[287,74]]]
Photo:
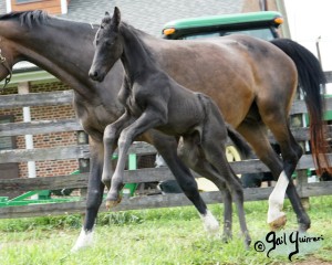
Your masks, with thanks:
[[[146,130],[159,126],[165,119],[155,109],[146,109],[138,119],[122,130],[118,138],[118,159],[112,177],[111,190],[107,193],[106,206],[115,206],[120,201],[120,190],[123,187],[123,173],[126,156],[134,139]]]

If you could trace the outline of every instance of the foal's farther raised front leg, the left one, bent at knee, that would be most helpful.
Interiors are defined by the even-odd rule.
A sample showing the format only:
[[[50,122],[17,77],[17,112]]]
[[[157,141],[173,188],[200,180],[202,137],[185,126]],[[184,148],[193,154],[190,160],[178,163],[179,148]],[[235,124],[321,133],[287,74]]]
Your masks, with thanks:
[[[102,181],[108,190],[111,189],[111,179],[114,171],[112,166],[112,156],[116,149],[116,141],[123,128],[128,126],[129,123],[132,123],[132,118],[127,110],[125,110],[125,113],[116,121],[107,125],[104,130],[104,167]]]

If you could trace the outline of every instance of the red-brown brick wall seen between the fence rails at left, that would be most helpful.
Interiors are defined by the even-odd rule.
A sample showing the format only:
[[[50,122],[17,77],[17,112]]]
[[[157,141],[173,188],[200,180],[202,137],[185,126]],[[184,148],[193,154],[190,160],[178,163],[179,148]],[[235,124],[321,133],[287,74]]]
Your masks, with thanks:
[[[69,87],[60,82],[31,85],[31,93],[39,92],[54,92],[54,91],[65,91]],[[6,94],[17,94],[17,87],[7,88]],[[62,106],[39,106],[31,107],[31,119],[32,120],[45,120],[45,119],[63,119],[63,118],[74,118],[75,113],[71,105]],[[14,121],[22,121],[22,108],[9,108],[0,109],[0,115],[13,115]],[[33,145],[34,148],[49,148],[49,147],[61,147],[70,146],[76,144],[76,132],[53,132],[45,135],[34,135]],[[24,149],[24,136],[17,137],[17,148]],[[77,160],[48,160],[48,161],[37,161],[37,177],[51,177],[69,174],[79,168]],[[28,163],[22,162],[19,165],[20,176],[22,178],[28,177]]]

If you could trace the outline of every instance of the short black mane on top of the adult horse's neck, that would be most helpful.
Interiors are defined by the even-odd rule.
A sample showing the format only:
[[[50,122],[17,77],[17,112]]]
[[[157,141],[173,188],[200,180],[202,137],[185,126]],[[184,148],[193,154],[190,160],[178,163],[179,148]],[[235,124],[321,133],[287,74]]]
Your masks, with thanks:
[[[45,22],[49,14],[43,10],[20,11],[1,14],[0,20],[19,19],[21,25],[32,26],[33,23],[41,24]]]

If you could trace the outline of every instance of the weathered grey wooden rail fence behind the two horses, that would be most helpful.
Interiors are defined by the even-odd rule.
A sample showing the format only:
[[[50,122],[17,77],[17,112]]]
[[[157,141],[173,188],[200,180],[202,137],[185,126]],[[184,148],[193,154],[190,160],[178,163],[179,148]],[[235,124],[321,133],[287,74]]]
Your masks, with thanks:
[[[332,83],[332,72],[326,72],[326,77]],[[0,96],[0,108],[27,107],[27,106],[45,106],[45,105],[69,105],[72,103],[73,92],[52,92],[38,93],[25,95],[6,95]],[[332,98],[325,100],[326,110],[332,110]],[[291,110],[292,115],[307,113],[307,107],[302,100],[295,100]],[[62,120],[40,120],[31,123],[11,123],[0,124],[1,136],[19,136],[35,134],[49,134],[55,131],[73,131],[82,130],[81,125],[76,119]],[[294,137],[299,141],[309,139],[308,128],[293,128]],[[329,136],[332,128],[329,127]],[[271,141],[273,140],[270,137]],[[144,144],[135,142],[131,153],[155,153],[154,147]],[[9,162],[27,162],[39,160],[66,160],[89,158],[87,145],[76,145],[66,147],[54,147],[46,149],[13,149],[0,151],[0,163]],[[329,155],[332,160],[332,153]],[[243,161],[231,162],[236,173],[257,173],[267,172],[268,168],[258,159],[250,159]],[[297,189],[301,198],[328,195],[332,194],[332,181],[308,183],[307,174],[303,170],[314,168],[311,155],[304,155],[298,165],[298,184]],[[302,170],[302,171],[301,171]],[[56,176],[48,178],[35,179],[7,179],[0,180],[0,191],[31,191],[31,190],[56,190],[63,188],[86,188],[87,173],[80,173],[73,176]],[[198,177],[198,176],[196,176]],[[125,182],[141,183],[154,182],[174,179],[168,168],[148,168],[126,171]],[[272,188],[248,188],[245,189],[246,201],[266,200],[268,199]],[[219,192],[203,192],[203,198],[207,203],[221,202]],[[134,210],[134,209],[149,209],[149,208],[167,208],[190,205],[191,203],[184,194],[159,194],[159,195],[144,195],[134,198],[124,198],[123,201],[114,209],[114,211]],[[65,203],[50,203],[50,204],[31,204],[25,206],[10,206],[0,208],[0,219],[21,218],[21,216],[37,216],[37,215],[55,215],[66,213],[82,213],[85,209],[84,198],[79,202]],[[102,205],[101,211],[105,211]]]

